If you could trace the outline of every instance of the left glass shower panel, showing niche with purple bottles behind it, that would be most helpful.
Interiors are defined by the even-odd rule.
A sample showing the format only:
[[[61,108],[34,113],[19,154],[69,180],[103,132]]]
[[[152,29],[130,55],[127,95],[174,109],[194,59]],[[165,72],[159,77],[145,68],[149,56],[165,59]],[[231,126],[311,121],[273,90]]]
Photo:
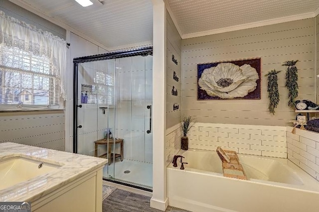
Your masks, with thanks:
[[[78,65],[77,153],[79,154],[102,158],[110,156],[109,142],[112,142],[112,139],[106,135],[115,129],[114,80],[115,59]],[[111,168],[105,167],[104,173],[111,175]],[[112,177],[114,177],[114,167]]]

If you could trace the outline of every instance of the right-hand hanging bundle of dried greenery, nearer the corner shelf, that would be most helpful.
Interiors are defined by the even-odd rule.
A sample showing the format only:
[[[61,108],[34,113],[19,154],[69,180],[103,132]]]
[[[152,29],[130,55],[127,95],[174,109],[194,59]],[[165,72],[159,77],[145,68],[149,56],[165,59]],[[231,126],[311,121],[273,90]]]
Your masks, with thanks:
[[[295,66],[298,60],[286,61],[283,66],[287,66],[286,87],[288,88],[288,106],[295,108],[295,99],[298,97],[298,74]]]

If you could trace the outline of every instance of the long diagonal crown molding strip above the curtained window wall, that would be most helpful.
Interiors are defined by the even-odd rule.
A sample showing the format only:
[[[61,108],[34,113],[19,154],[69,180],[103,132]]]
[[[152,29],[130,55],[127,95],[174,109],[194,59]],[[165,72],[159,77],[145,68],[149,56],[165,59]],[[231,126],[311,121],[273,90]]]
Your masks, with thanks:
[[[103,45],[102,43],[97,42],[96,40],[90,38],[89,36],[83,34],[82,32],[80,32],[78,30],[74,29],[73,27],[71,27],[71,26],[69,26],[69,25],[67,25],[67,24],[65,24],[65,23],[63,23],[63,22],[61,22],[61,21],[59,21],[59,20],[57,20],[57,19],[55,19],[53,17],[50,17],[49,15],[47,15],[44,12],[40,11],[39,9],[37,9],[35,7],[32,7],[31,5],[25,3],[23,0],[9,0],[9,1],[11,1],[12,3],[14,3],[14,4],[18,5],[18,6],[21,6],[22,8],[24,8],[24,9],[26,9],[26,10],[28,10],[28,11],[30,11],[30,12],[38,15],[38,16],[40,16],[41,18],[44,18],[44,19],[46,19],[46,20],[48,20],[48,21],[50,21],[50,22],[52,22],[52,23],[64,28],[65,30],[71,31],[74,34],[84,38],[85,40],[88,40],[91,43],[93,43],[93,44],[95,44],[95,45],[97,45],[97,46],[109,51],[109,47]]]

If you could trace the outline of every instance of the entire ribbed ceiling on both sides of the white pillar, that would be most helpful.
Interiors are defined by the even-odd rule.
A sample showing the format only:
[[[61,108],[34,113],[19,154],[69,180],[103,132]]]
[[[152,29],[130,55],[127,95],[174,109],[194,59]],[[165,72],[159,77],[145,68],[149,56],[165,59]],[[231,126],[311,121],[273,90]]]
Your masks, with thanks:
[[[75,0],[10,1],[40,11],[108,50],[150,44],[153,40],[152,0],[92,0],[94,4],[88,7]],[[165,1],[182,38],[314,17],[319,13],[319,0]]]

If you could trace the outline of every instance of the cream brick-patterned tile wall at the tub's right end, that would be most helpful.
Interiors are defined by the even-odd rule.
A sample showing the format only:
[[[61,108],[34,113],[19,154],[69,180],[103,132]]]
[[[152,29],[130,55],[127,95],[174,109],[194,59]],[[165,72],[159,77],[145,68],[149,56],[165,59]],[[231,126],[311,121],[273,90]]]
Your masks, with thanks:
[[[319,181],[319,133],[287,127],[288,159]]]

